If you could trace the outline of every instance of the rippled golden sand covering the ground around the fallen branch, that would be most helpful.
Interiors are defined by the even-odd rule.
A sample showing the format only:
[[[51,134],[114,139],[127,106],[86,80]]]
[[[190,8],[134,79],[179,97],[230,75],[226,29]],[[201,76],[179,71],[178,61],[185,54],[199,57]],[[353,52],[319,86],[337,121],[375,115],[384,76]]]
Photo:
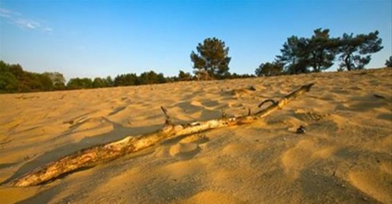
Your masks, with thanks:
[[[3,94],[0,183],[160,129],[161,105],[173,122],[241,115],[309,82],[263,121],[167,140],[37,187],[1,186],[0,203],[392,203],[392,69]]]

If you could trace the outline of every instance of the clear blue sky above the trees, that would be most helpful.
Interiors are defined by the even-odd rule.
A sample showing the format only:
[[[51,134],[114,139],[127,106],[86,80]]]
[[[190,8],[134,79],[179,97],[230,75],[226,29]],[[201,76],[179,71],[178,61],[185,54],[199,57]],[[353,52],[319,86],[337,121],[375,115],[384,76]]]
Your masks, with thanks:
[[[321,27],[334,37],[379,30],[384,49],[368,67],[381,67],[392,55],[391,2],[0,0],[0,59],[68,79],[177,75],[193,71],[197,43],[217,37],[230,48],[230,71],[253,73],[287,37],[310,37]]]

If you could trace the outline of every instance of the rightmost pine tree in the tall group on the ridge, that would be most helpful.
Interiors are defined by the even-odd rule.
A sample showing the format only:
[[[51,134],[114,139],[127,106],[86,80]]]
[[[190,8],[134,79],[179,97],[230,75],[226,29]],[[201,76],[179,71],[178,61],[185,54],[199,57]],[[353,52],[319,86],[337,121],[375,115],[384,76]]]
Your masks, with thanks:
[[[378,31],[369,34],[360,34],[353,36],[344,33],[343,37],[339,39],[339,59],[340,68],[348,71],[362,69],[371,61],[371,54],[377,53],[383,47],[381,46],[382,39],[378,37]]]

